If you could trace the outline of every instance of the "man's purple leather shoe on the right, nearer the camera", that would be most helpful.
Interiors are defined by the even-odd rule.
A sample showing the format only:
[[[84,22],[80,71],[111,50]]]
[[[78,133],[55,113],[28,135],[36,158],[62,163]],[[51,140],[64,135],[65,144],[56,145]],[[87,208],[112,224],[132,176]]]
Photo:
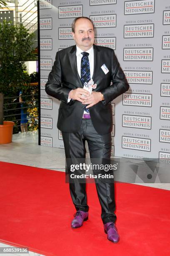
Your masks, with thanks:
[[[120,236],[117,232],[117,228],[115,226],[115,223],[108,222],[104,224],[104,230],[107,234],[107,239],[112,241],[113,243],[117,243],[120,240]]]

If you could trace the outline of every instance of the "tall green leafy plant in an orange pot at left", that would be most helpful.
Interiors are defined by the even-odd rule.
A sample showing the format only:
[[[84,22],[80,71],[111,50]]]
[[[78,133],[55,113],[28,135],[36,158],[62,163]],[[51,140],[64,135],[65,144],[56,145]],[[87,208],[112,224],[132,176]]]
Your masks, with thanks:
[[[30,77],[25,72],[25,61],[35,60],[33,53],[34,35],[29,33],[22,24],[0,23],[0,143],[12,141],[13,122],[3,120],[3,101],[16,91],[25,92],[30,83]],[[13,94],[14,95],[14,94]],[[10,123],[9,123],[10,122]],[[9,128],[12,125],[12,130]],[[11,138],[6,138],[10,133]]]

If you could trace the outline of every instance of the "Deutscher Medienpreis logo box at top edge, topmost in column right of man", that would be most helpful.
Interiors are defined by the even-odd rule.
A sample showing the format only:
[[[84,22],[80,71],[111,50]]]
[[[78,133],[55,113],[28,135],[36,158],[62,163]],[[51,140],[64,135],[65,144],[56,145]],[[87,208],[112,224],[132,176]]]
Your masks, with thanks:
[[[124,14],[143,14],[143,13],[154,13],[155,11],[155,0],[137,0],[137,1],[125,1]]]

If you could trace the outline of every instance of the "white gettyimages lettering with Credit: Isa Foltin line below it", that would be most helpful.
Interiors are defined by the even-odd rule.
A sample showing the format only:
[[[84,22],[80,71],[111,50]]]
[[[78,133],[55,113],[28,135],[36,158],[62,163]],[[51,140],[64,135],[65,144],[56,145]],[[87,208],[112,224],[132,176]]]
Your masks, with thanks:
[[[76,171],[85,171],[87,173],[81,173],[76,174],[70,173],[71,179],[113,179],[113,173],[107,173],[112,172],[114,170],[117,170],[117,164],[85,164],[85,163],[79,163],[79,164],[71,164],[70,165],[70,172],[76,172]],[[90,171],[93,171],[93,174],[90,173]]]

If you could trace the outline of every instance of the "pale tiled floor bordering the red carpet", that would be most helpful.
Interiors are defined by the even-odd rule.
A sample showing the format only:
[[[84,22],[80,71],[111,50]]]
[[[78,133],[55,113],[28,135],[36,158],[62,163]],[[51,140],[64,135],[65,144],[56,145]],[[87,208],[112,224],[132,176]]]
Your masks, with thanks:
[[[65,172],[64,149],[38,146],[37,132],[13,135],[12,143],[0,145],[0,161]],[[124,159],[124,161],[126,160]],[[142,181],[136,181],[135,184],[138,182]],[[140,183],[140,185],[170,190],[170,183]],[[8,245],[0,243],[0,247],[8,247]],[[0,255],[7,256],[12,254],[1,253]],[[29,254],[13,255],[40,256],[40,254],[31,251]]]

